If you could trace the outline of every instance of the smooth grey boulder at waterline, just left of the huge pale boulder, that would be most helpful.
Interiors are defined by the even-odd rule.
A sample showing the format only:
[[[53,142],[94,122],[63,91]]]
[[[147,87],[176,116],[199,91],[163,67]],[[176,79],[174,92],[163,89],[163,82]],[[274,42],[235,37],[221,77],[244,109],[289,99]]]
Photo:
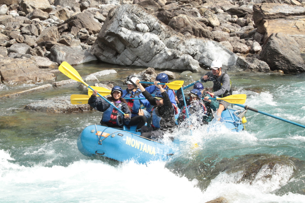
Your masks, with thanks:
[[[97,58],[88,51],[83,51],[77,47],[54,45],[50,51],[51,60],[58,64],[66,61],[70,65],[75,65],[97,60]]]

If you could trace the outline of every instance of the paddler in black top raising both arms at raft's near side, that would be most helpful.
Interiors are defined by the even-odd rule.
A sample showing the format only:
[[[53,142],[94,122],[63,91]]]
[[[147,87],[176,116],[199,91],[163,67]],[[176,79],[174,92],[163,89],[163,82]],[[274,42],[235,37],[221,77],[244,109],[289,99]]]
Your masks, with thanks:
[[[154,82],[154,85],[160,90],[152,97],[145,88],[137,80],[136,85],[141,90],[142,94],[153,106],[151,112],[152,124],[151,127],[143,126],[141,128],[141,136],[149,139],[157,140],[163,138],[165,132],[172,133],[174,131],[175,123],[175,113],[174,107],[170,101],[167,92],[162,88],[161,85],[157,85],[158,81]]]

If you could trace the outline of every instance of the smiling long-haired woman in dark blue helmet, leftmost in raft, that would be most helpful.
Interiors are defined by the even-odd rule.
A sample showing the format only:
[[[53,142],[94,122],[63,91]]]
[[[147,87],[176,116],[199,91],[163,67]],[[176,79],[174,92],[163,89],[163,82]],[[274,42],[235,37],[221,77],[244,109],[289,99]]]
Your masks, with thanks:
[[[112,107],[103,98],[97,97],[97,90],[95,89],[88,100],[88,104],[95,110],[104,112],[101,120],[101,125],[111,128],[122,128],[123,125],[128,125],[130,122],[129,115],[131,114],[127,102],[122,98],[123,90],[120,86],[114,86],[111,89],[111,97],[107,100],[114,104],[118,109],[123,111],[126,115],[123,117],[117,109]]]

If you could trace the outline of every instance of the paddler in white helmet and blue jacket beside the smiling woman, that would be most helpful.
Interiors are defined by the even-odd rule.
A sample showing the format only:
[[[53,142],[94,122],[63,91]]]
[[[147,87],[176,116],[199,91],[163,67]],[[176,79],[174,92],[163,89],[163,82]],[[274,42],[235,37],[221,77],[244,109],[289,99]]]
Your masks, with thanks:
[[[127,89],[123,90],[123,98],[139,98],[141,91],[136,86],[135,82],[138,80],[135,76],[127,77]],[[127,105],[131,111],[131,120],[128,126],[137,125],[137,130],[140,129],[143,125],[145,125],[147,118],[145,117],[144,112],[146,110],[141,109],[141,100],[127,100]],[[149,114],[147,112],[147,114]]]

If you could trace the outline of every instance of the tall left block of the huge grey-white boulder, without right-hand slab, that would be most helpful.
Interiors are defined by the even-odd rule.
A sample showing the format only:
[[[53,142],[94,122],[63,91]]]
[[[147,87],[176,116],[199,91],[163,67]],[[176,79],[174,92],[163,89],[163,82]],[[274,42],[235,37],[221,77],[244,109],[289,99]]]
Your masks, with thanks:
[[[140,23],[146,24],[149,32],[139,32]],[[91,51],[100,60],[113,64],[196,71],[199,64],[190,55],[164,44],[163,40],[175,34],[178,33],[141,6],[120,5],[109,12]]]

